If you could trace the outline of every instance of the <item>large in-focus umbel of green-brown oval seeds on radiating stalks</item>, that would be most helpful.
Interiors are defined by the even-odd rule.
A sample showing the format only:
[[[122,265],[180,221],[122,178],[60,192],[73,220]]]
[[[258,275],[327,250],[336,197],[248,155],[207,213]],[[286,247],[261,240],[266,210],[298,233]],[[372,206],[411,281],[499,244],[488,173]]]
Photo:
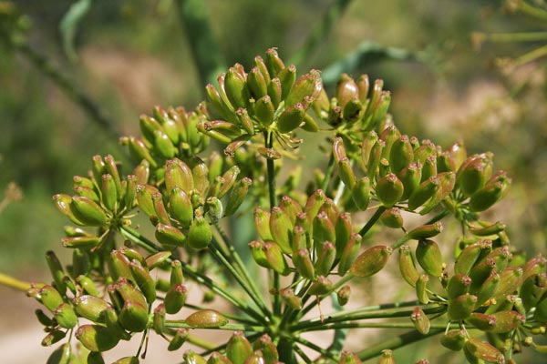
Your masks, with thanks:
[[[534,339],[547,324],[545,258],[524,257],[504,224],[480,217],[511,184],[491,153],[401,135],[381,80],[342,75],[328,96],[319,71],[299,76],[274,48],[251,69],[230,67],[206,94],[195,110],[141,116],[142,136],[120,139],[132,166],[95,156],[88,175],[74,177],[73,195],[54,196],[73,224],[62,240],[72,262],[48,252],[52,281],[27,290],[44,306],[36,312],[43,345],[63,341],[52,358],[102,362],[103,351],[139,336],[139,348],[119,359],[139,362],[150,335],[181,350],[185,363],[392,363],[392,349],[435,335],[470,363],[515,362],[523,347],[547,351]],[[313,173],[304,163],[282,173],[283,161],[310,132],[325,136],[329,157],[303,191],[300,175]],[[453,254],[447,221],[461,231]],[[388,241],[376,225],[399,238]],[[416,296],[345,309],[356,283],[390,260]],[[200,305],[191,303],[198,286]],[[182,308],[190,315],[181,318]],[[367,328],[409,331],[347,351],[346,330]],[[209,343],[194,329],[233,335]],[[303,337],[324,330],[336,332],[328,348]]]

